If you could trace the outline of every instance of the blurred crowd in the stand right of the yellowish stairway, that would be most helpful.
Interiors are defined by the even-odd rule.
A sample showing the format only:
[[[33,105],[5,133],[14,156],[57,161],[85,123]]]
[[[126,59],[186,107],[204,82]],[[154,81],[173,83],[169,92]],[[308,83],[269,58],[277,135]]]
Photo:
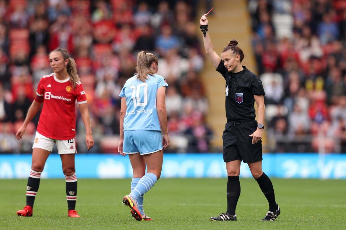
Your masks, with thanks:
[[[267,147],[346,152],[346,2],[248,0]]]

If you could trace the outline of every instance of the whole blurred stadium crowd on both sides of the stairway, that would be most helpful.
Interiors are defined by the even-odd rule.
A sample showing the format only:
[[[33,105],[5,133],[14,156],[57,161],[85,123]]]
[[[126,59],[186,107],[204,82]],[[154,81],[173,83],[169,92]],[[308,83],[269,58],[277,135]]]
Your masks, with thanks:
[[[169,84],[167,151],[212,151],[197,2],[0,0],[0,152],[31,152],[39,113],[23,141],[15,132],[39,79],[52,72],[47,57],[57,47],[76,60],[88,97],[92,152],[117,152],[118,95],[140,50],[159,57],[158,74]],[[248,9],[266,92],[266,150],[346,152],[345,1],[248,0]],[[85,152],[77,118],[78,151]]]

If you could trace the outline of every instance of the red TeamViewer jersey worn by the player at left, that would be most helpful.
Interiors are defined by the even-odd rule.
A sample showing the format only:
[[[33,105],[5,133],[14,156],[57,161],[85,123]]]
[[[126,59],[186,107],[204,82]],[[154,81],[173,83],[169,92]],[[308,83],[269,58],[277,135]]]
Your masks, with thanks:
[[[35,101],[43,108],[37,132],[43,136],[70,140],[76,135],[75,101],[86,103],[85,91],[81,82],[73,88],[70,78],[59,80],[55,73],[43,76],[37,86]]]

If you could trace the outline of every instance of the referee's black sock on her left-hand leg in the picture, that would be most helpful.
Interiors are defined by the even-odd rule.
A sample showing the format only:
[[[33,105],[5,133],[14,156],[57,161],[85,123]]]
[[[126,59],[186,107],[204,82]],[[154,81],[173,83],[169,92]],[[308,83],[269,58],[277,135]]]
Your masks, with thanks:
[[[227,212],[234,216],[236,214],[236,207],[240,196],[240,182],[239,177],[228,176],[227,180]]]

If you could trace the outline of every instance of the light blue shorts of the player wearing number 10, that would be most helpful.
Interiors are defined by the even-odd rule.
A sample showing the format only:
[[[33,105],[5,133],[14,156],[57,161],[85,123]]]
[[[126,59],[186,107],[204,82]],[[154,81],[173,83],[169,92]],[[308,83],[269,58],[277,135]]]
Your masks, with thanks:
[[[163,149],[161,131],[125,130],[122,151],[126,154],[141,155],[157,152]]]

